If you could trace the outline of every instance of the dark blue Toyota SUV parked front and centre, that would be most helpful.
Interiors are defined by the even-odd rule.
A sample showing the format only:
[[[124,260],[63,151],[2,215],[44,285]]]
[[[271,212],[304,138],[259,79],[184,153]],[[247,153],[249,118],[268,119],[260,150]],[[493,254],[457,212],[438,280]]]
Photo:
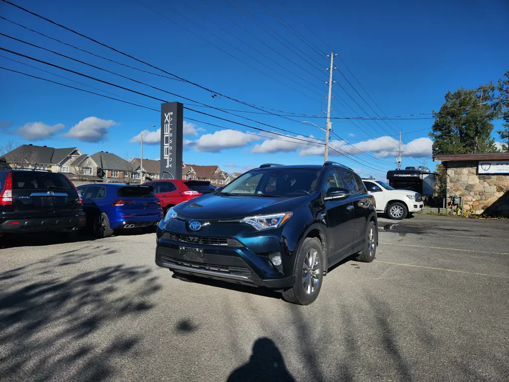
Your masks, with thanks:
[[[375,201],[353,170],[267,164],[169,209],[155,260],[179,278],[273,288],[307,305],[328,268],[353,254],[371,262],[377,244]]]

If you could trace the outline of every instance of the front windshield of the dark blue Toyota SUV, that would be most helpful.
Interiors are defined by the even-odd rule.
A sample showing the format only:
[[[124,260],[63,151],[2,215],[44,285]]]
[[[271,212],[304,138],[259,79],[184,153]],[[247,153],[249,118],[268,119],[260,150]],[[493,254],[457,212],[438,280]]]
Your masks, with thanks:
[[[320,170],[264,169],[244,174],[225,186],[221,194],[237,196],[299,197],[314,192]]]

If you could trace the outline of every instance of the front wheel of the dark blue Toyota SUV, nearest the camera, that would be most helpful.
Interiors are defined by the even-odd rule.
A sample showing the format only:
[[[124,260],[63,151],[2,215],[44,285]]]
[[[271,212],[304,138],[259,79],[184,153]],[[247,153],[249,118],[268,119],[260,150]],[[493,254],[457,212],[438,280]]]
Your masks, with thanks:
[[[292,304],[313,303],[322,288],[324,261],[320,241],[314,237],[306,237],[295,259],[295,285],[282,292],[283,298]]]

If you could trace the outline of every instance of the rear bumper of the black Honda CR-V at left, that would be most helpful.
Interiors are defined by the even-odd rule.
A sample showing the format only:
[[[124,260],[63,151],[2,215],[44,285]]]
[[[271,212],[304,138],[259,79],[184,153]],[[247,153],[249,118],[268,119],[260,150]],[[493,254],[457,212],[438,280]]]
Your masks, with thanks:
[[[5,219],[0,223],[0,233],[28,233],[63,231],[81,228],[87,223],[84,212],[77,216],[47,217],[38,219]]]

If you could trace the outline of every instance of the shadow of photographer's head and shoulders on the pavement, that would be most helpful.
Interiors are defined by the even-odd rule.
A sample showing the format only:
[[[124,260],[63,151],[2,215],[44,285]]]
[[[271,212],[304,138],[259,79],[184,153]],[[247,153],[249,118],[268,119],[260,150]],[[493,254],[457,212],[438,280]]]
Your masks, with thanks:
[[[274,341],[263,337],[256,340],[249,362],[234,370],[227,382],[259,381],[295,382],[288,372],[282,354]]]

